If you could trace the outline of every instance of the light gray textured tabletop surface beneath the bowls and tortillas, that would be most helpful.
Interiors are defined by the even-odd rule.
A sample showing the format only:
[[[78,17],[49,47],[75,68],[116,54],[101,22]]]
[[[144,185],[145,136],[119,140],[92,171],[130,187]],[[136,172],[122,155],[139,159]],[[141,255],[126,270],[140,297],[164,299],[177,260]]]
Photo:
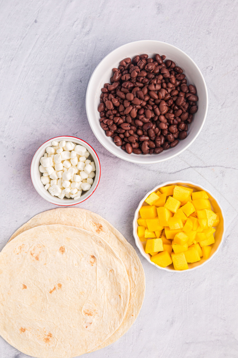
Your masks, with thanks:
[[[0,249],[29,218],[54,208],[32,186],[30,163],[35,150],[56,135],[79,136],[97,151],[101,181],[80,207],[105,217],[134,247],[135,208],[148,190],[167,180],[201,184],[217,197],[226,217],[224,244],[201,269],[168,274],[139,254],[147,289],[138,319],[116,343],[85,357],[238,357],[237,5],[228,0],[0,2]],[[98,62],[140,39],[184,50],[201,69],[209,94],[197,140],[176,158],[150,166],[107,152],[93,136],[85,110],[87,83]],[[0,338],[0,357],[26,355]]]

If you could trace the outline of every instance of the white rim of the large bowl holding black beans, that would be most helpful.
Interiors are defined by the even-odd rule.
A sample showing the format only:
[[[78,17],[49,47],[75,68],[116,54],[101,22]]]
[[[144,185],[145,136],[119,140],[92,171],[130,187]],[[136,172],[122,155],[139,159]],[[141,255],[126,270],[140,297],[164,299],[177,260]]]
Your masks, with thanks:
[[[100,136],[98,135],[97,131],[95,130],[95,127],[93,126],[93,120],[91,120],[91,117],[90,117],[90,113],[89,113],[89,107],[90,107],[90,104],[88,103],[89,102],[89,92],[90,92],[90,86],[91,86],[91,83],[93,81],[93,77],[94,77],[94,74],[95,72],[97,71],[98,67],[101,65],[102,62],[104,62],[105,60],[107,60],[107,58],[115,51],[117,51],[118,49],[121,49],[123,48],[124,46],[127,46],[127,45],[132,45],[132,44],[136,44],[136,43],[142,43],[142,42],[151,42],[151,43],[157,43],[157,44],[166,44],[178,51],[181,51],[181,53],[187,57],[192,63],[193,63],[193,66],[196,67],[199,75],[201,76],[201,79],[202,79],[202,82],[203,82],[203,85],[204,85],[204,88],[205,88],[205,95],[206,95],[206,104],[205,104],[205,113],[204,113],[204,116],[203,116],[203,120],[202,120],[202,123],[199,127],[199,130],[197,131],[196,135],[194,136],[193,139],[191,139],[191,141],[188,142],[188,144],[186,144],[184,146],[183,149],[179,150],[177,153],[175,154],[171,154],[168,156],[168,158],[164,158],[164,159],[159,159],[159,156],[156,156],[155,160],[151,160],[151,161],[146,161],[145,160],[141,160],[140,162],[138,162],[136,159],[133,159],[131,158],[130,154],[125,155],[125,152],[123,151],[122,154],[120,153],[117,153],[116,150],[114,149],[111,149],[108,145],[107,145],[107,141],[103,141],[100,139]],[[167,42],[163,42],[163,41],[158,41],[158,40],[138,40],[138,41],[133,41],[133,42],[129,42],[129,43],[126,43],[126,44],[123,44],[117,48],[115,48],[114,50],[112,50],[110,53],[108,53],[99,63],[98,65],[96,66],[96,68],[94,69],[91,77],[90,77],[90,80],[88,82],[88,86],[87,86],[87,91],[86,91],[86,113],[87,113],[87,118],[88,118],[88,122],[90,124],[90,127],[93,131],[93,134],[96,136],[97,140],[103,145],[103,147],[105,147],[110,153],[112,153],[113,155],[117,156],[118,158],[120,159],[123,159],[123,160],[126,160],[126,161],[129,161],[131,163],[137,163],[137,164],[155,164],[155,163],[161,163],[163,161],[166,161],[166,160],[169,160],[169,159],[172,159],[174,158],[175,156],[181,154],[184,150],[186,150],[198,137],[198,135],[200,134],[202,128],[203,128],[203,125],[205,123],[205,120],[206,120],[206,117],[207,117],[207,111],[208,111],[208,91],[207,91],[207,86],[206,86],[206,82],[205,82],[205,79],[203,77],[203,74],[201,72],[201,70],[199,69],[199,67],[197,66],[197,64],[193,61],[193,59],[188,55],[186,54],[183,50],[179,49],[178,47],[174,46],[174,45],[171,45]],[[127,153],[126,153],[127,154]]]

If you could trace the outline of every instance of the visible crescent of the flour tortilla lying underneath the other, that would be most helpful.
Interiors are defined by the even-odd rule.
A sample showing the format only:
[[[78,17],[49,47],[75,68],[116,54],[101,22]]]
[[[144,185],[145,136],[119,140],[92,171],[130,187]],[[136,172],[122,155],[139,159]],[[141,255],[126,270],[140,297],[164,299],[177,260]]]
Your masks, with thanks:
[[[141,261],[134,248],[127,242],[122,234],[108,221],[98,214],[80,208],[59,208],[37,214],[27,223],[22,225],[10,238],[21,232],[42,224],[64,224],[80,227],[90,232],[99,234],[122,259],[130,282],[130,300],[126,316],[121,326],[97,349],[114,343],[132,326],[137,318],[145,297],[145,274]],[[9,240],[9,241],[10,241]]]

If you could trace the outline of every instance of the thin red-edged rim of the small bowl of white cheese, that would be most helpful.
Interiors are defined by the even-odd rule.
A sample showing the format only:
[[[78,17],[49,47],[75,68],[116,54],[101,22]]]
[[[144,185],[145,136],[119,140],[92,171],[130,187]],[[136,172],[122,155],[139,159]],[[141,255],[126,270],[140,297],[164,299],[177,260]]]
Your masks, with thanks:
[[[35,159],[35,156],[39,153],[39,150],[42,148],[42,146],[44,146],[45,143],[47,143],[47,142],[49,142],[49,141],[53,141],[54,139],[60,139],[60,138],[75,138],[75,139],[77,139],[77,140],[80,140],[81,142],[86,143],[88,146],[90,146],[91,150],[92,150],[93,153],[96,155],[96,158],[97,158],[97,161],[98,161],[97,164],[98,164],[98,168],[99,168],[99,176],[98,176],[98,180],[97,180],[97,184],[96,184],[95,189],[93,190],[93,192],[92,192],[86,199],[83,199],[83,200],[81,200],[81,201],[80,201],[80,199],[79,199],[79,201],[77,200],[76,203],[72,203],[72,204],[63,204],[63,203],[62,203],[62,204],[58,204],[58,203],[52,202],[52,201],[50,201],[50,200],[48,200],[48,199],[42,197],[42,195],[41,195],[41,193],[40,193],[40,190],[38,190],[38,188],[37,188],[36,185],[35,185],[35,180],[36,180],[36,179],[35,179],[35,175],[34,175],[34,173],[33,173],[33,166],[32,166],[32,162],[33,162],[33,160]],[[51,138],[51,139],[46,140],[46,141],[45,141],[44,143],[42,143],[42,144],[39,146],[39,148],[35,151],[35,154],[33,155],[32,160],[31,160],[30,175],[31,175],[31,182],[32,182],[32,184],[33,184],[35,190],[37,191],[37,193],[38,193],[43,199],[45,199],[45,200],[47,200],[49,203],[54,204],[54,205],[57,205],[57,206],[72,206],[72,205],[77,205],[77,204],[80,204],[80,203],[84,202],[85,200],[87,200],[88,198],[90,198],[91,195],[95,192],[95,190],[97,189],[98,184],[99,184],[99,182],[100,182],[100,178],[101,178],[101,164],[100,164],[100,160],[99,160],[99,158],[98,158],[98,155],[97,155],[96,151],[95,151],[95,150],[93,149],[93,147],[92,147],[90,144],[88,144],[88,142],[86,142],[85,140],[83,140],[83,139],[81,139],[81,138],[78,138],[78,137],[75,137],[75,136],[67,136],[67,135],[65,135],[65,136],[57,136],[57,137],[53,137],[53,138]],[[43,184],[42,184],[42,185],[43,185]],[[43,188],[44,188],[44,186],[43,186]],[[52,197],[52,198],[54,198],[54,197]],[[62,202],[64,202],[63,199],[60,199],[60,200],[62,200]],[[72,199],[72,200],[73,200],[73,199]]]

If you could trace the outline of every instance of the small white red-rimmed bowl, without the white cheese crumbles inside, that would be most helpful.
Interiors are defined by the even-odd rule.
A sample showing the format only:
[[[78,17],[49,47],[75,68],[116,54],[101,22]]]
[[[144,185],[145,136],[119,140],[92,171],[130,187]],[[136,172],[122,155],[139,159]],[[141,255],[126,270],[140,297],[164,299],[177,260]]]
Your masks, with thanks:
[[[68,199],[68,198],[60,199],[55,196],[53,197],[48,192],[48,190],[46,190],[44,188],[44,185],[41,183],[40,178],[41,178],[42,173],[40,173],[40,170],[39,170],[40,158],[44,155],[44,153],[46,153],[46,148],[51,146],[51,142],[53,140],[55,140],[57,142],[60,142],[61,140],[65,140],[65,141],[70,141],[70,142],[73,142],[76,144],[83,145],[85,148],[87,148],[87,151],[90,153],[90,156],[88,157],[88,159],[90,159],[91,161],[94,161],[94,163],[95,163],[96,171],[95,171],[95,177],[93,178],[93,184],[87,192],[82,192],[82,195],[78,200]],[[37,149],[34,157],[32,158],[32,162],[31,162],[31,181],[32,181],[32,184],[34,185],[37,193],[40,194],[42,198],[44,198],[45,200],[47,200],[50,203],[55,204],[55,205],[70,206],[70,205],[76,205],[76,204],[82,203],[84,200],[88,199],[95,192],[97,185],[99,183],[99,180],[100,180],[100,175],[101,175],[101,166],[100,166],[100,161],[99,161],[99,158],[98,158],[95,150],[87,142],[85,142],[84,140],[79,139],[77,137],[60,136],[60,137],[55,137],[55,138],[51,138],[51,139],[47,140],[47,142],[43,143],[39,147],[39,149]]]

